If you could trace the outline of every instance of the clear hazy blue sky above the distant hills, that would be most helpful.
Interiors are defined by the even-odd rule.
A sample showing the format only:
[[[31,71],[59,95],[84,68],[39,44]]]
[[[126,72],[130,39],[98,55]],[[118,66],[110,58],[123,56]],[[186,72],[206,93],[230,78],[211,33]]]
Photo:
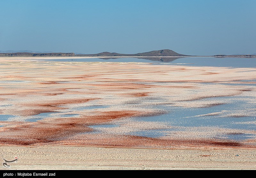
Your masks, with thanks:
[[[0,50],[256,53],[255,0],[0,0]]]

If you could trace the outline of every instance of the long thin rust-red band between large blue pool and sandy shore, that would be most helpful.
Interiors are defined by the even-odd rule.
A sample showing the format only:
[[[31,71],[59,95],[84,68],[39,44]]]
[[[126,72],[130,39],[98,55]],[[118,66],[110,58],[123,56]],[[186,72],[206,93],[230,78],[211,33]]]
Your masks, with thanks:
[[[82,138],[81,140],[78,138]],[[87,145],[87,146],[112,146],[132,148],[256,148],[255,145],[247,145],[235,141],[217,141],[216,139],[161,139],[133,135],[79,135],[69,140],[53,142],[52,144]]]

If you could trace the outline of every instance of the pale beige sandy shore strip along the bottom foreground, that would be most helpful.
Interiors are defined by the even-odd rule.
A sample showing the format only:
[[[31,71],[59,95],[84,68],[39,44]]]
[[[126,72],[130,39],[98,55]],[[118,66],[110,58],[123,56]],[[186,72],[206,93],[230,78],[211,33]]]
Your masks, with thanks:
[[[2,146],[10,169],[256,169],[256,150]],[[1,166],[1,170],[5,170]]]

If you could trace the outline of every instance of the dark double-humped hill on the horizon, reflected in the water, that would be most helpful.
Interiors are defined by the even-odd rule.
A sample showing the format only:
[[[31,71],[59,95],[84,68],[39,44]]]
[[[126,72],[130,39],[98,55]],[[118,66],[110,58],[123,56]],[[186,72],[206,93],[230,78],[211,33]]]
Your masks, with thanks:
[[[88,56],[88,57],[189,57],[189,55],[179,54],[173,50],[156,50],[137,54],[120,54],[116,52],[101,52],[97,54],[77,54],[76,56]]]

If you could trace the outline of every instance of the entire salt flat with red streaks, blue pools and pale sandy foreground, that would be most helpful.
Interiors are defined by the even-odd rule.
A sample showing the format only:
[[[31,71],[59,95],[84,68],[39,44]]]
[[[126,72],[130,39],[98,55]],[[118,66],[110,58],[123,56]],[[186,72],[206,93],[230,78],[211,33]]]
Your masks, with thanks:
[[[255,76],[253,67],[3,58],[1,154],[18,155],[17,169],[253,169]]]

